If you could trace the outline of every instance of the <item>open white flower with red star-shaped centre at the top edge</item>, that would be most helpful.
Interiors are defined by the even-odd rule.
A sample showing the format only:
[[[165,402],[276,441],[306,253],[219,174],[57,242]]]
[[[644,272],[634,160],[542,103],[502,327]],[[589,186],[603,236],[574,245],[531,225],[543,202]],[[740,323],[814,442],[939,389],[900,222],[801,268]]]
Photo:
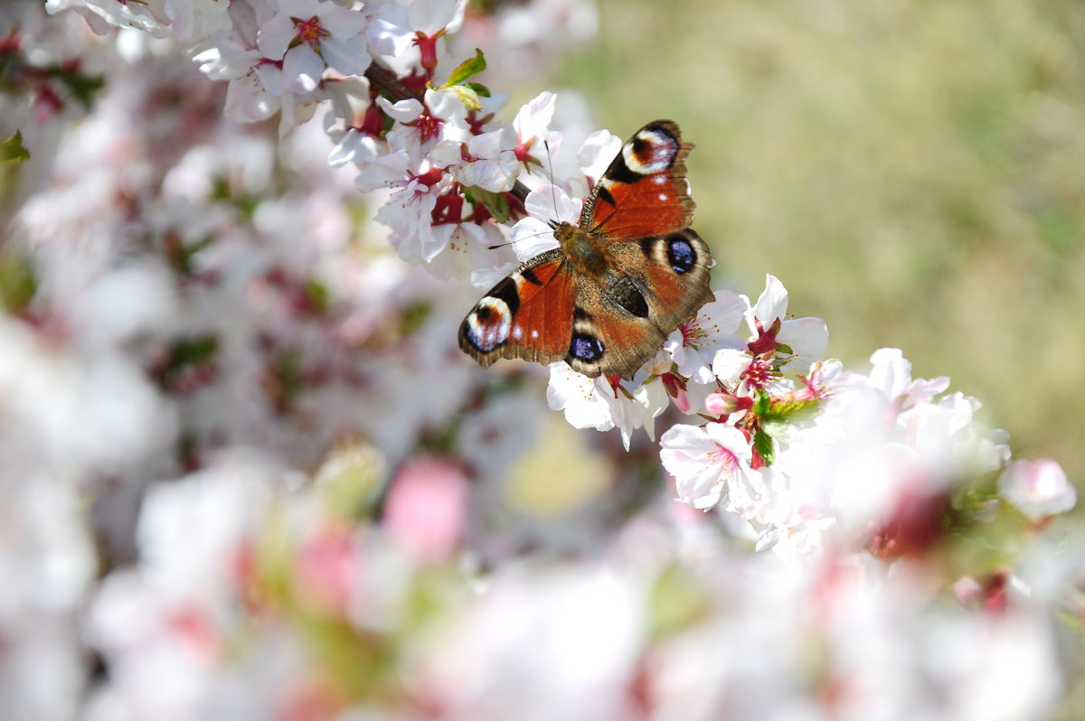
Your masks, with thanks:
[[[371,61],[366,42],[366,16],[334,2],[279,0],[279,12],[257,35],[260,52],[282,61],[286,88],[316,90],[324,65],[343,75],[361,75]]]

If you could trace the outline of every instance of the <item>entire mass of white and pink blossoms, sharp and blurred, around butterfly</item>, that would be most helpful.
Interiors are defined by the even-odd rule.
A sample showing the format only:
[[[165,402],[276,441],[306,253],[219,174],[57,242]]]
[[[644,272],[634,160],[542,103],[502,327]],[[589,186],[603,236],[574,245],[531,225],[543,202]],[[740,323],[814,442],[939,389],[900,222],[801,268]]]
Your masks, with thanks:
[[[0,717],[1054,712],[1074,489],[947,378],[845,370],[771,275],[546,403],[456,349],[476,295],[438,279],[552,247],[621,145],[550,92],[503,120],[484,57],[592,12],[0,9]],[[532,508],[546,405],[618,434]]]

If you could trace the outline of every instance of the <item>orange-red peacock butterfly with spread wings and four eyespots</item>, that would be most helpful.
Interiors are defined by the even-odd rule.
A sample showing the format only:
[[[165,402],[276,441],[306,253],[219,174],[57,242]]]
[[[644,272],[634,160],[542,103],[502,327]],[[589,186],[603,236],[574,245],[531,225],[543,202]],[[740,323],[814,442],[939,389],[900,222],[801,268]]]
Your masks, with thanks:
[[[631,378],[713,299],[712,255],[689,228],[691,147],[671,120],[634,133],[591,189],[579,223],[550,223],[559,247],[514,270],[468,313],[460,348],[484,366],[564,360],[590,377]]]

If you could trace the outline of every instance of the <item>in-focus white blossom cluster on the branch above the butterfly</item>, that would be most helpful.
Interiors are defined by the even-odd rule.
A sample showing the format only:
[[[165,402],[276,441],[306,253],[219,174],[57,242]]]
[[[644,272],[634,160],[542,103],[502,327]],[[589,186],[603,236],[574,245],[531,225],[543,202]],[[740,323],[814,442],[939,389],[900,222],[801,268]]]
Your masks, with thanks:
[[[560,133],[548,131],[553,93],[497,119],[507,95],[468,79],[482,55],[459,62],[447,38],[467,0],[48,0],[105,33],[138,28],[191,48],[200,69],[229,81],[226,116],[244,123],[280,114],[280,134],[323,101],[335,141],[332,167],[353,164],[362,192],[388,189],[376,219],[407,262],[438,275],[505,267],[494,213],[506,215],[521,175],[548,165]],[[362,78],[366,78],[365,80]],[[390,99],[391,95],[391,99]],[[548,142],[549,141],[549,144]],[[472,192],[473,191],[473,192]]]

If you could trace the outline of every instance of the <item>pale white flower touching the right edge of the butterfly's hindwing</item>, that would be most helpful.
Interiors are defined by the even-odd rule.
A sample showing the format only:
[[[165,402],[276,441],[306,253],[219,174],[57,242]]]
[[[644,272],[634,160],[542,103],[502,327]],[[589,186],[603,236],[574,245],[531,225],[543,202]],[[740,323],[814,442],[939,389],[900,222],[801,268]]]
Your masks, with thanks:
[[[716,291],[715,299],[705,304],[693,320],[667,336],[663,348],[678,365],[678,373],[694,383],[713,383],[712,363],[716,351],[745,347],[745,342],[735,335],[735,331],[749,307],[743,296]],[[745,358],[749,362],[750,357]]]

